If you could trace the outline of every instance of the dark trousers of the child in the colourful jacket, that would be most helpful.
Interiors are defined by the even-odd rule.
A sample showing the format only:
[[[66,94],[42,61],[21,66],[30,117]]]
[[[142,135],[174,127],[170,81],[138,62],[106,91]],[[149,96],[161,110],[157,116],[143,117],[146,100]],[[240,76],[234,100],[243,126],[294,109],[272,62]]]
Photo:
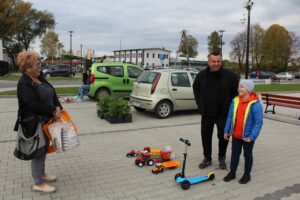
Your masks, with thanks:
[[[253,165],[253,155],[252,155],[253,146],[254,146],[254,142],[245,142],[242,139],[232,138],[230,173],[235,175],[237,167],[239,165],[240,155],[243,148],[244,157],[245,157],[244,174],[250,175],[252,165]]]

